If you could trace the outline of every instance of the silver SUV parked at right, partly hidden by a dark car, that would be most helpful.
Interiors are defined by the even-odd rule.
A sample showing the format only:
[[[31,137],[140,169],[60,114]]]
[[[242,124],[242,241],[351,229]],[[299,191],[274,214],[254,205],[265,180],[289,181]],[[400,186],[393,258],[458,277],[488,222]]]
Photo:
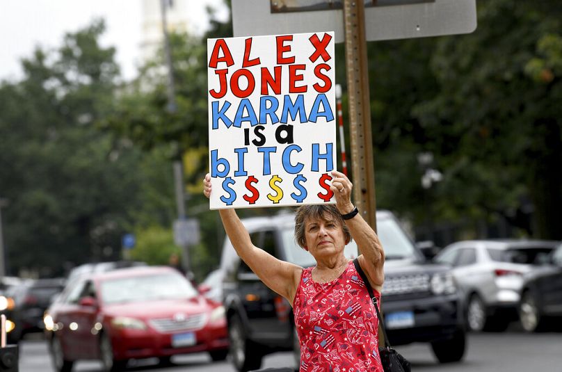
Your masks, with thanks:
[[[444,248],[435,261],[453,267],[465,296],[472,331],[506,330],[517,320],[523,275],[544,261],[559,241],[460,241]]]

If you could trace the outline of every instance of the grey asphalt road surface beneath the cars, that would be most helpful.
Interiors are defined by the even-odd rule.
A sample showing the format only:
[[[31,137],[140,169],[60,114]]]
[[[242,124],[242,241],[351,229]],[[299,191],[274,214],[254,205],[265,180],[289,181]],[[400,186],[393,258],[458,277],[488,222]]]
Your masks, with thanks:
[[[54,372],[45,341],[37,337],[28,338],[20,343],[19,348],[19,372]],[[397,349],[412,362],[413,371],[560,371],[562,365],[561,332],[470,334],[465,361],[457,364],[438,364],[425,344],[399,346]],[[130,371],[234,372],[229,362],[211,363],[206,354],[182,355],[174,357],[172,362],[175,362],[174,366],[159,367],[155,360],[147,359],[131,363]],[[266,357],[263,367],[292,365],[289,353],[276,353]],[[74,371],[99,372],[102,369],[99,362],[77,362]]]

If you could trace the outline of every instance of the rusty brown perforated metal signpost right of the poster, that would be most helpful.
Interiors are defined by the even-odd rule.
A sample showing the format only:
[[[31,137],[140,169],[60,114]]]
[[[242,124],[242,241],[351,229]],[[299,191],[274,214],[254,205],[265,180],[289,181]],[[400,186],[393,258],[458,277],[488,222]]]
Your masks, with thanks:
[[[353,203],[376,231],[375,170],[364,3],[344,0]]]

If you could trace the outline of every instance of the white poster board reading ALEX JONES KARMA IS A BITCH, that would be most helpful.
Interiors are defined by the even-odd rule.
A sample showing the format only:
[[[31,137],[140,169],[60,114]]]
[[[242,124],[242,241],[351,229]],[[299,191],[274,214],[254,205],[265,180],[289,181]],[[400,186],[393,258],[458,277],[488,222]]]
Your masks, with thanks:
[[[207,40],[211,209],[332,202],[334,33]]]

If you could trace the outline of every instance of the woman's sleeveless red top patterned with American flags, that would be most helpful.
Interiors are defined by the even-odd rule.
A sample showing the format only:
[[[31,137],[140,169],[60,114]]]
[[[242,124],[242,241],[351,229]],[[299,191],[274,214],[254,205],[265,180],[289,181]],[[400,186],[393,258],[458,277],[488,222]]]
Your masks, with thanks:
[[[301,372],[383,372],[378,319],[353,261],[332,282],[312,280],[305,268],[293,312],[300,339]],[[380,303],[380,293],[374,290]]]

